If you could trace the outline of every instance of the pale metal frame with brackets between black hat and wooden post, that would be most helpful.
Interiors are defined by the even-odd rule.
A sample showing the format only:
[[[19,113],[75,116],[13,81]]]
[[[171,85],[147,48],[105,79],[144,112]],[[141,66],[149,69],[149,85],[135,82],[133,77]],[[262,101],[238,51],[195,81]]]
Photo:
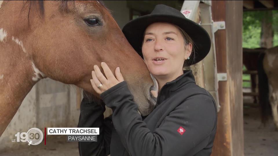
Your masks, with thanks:
[[[225,29],[225,21],[213,22],[211,1],[184,1],[180,12],[191,21],[197,22],[195,17],[198,9],[201,12],[199,24],[209,33],[212,44],[209,54],[203,60],[205,89],[212,94],[217,105],[217,112],[219,112],[218,81],[227,81],[227,73],[217,73],[214,33],[219,29]]]

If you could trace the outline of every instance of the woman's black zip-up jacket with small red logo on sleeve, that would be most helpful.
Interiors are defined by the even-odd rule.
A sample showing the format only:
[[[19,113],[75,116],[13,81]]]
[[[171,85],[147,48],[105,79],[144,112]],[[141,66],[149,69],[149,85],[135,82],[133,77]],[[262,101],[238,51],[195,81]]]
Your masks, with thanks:
[[[185,70],[161,88],[156,107],[147,117],[138,114],[126,81],[100,97],[113,115],[104,120],[104,103],[83,99],[78,127],[100,127],[100,135],[98,142],[79,142],[80,155],[211,154],[217,128],[216,104],[209,92],[196,85],[192,70]]]

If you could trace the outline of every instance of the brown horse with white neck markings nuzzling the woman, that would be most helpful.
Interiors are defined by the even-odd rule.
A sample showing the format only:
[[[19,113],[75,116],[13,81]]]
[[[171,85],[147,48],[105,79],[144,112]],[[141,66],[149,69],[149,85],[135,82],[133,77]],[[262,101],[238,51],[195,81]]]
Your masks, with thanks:
[[[157,82],[99,1],[0,1],[0,136],[40,79],[98,96],[90,79],[100,62],[113,73],[120,67],[139,112],[149,114]]]

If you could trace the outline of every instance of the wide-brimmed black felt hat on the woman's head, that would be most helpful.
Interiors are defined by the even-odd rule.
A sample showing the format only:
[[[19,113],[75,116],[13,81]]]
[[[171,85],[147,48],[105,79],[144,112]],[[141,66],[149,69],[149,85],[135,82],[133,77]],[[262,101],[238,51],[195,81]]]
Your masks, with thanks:
[[[122,29],[125,37],[137,51],[142,55],[142,41],[146,28],[155,22],[167,22],[179,26],[193,40],[195,45],[195,59],[190,59],[190,64],[195,64],[206,57],[211,48],[211,40],[206,30],[199,24],[187,19],[179,10],[167,5],[156,5],[151,14],[140,16],[129,21]],[[191,54],[192,56],[192,54]]]

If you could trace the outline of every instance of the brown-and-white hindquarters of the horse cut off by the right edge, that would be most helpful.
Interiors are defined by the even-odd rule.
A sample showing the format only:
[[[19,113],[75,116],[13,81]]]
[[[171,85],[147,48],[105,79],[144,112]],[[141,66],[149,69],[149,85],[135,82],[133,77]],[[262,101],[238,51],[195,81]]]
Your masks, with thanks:
[[[263,65],[268,78],[268,98],[272,109],[272,116],[278,129],[278,46],[265,51]]]

